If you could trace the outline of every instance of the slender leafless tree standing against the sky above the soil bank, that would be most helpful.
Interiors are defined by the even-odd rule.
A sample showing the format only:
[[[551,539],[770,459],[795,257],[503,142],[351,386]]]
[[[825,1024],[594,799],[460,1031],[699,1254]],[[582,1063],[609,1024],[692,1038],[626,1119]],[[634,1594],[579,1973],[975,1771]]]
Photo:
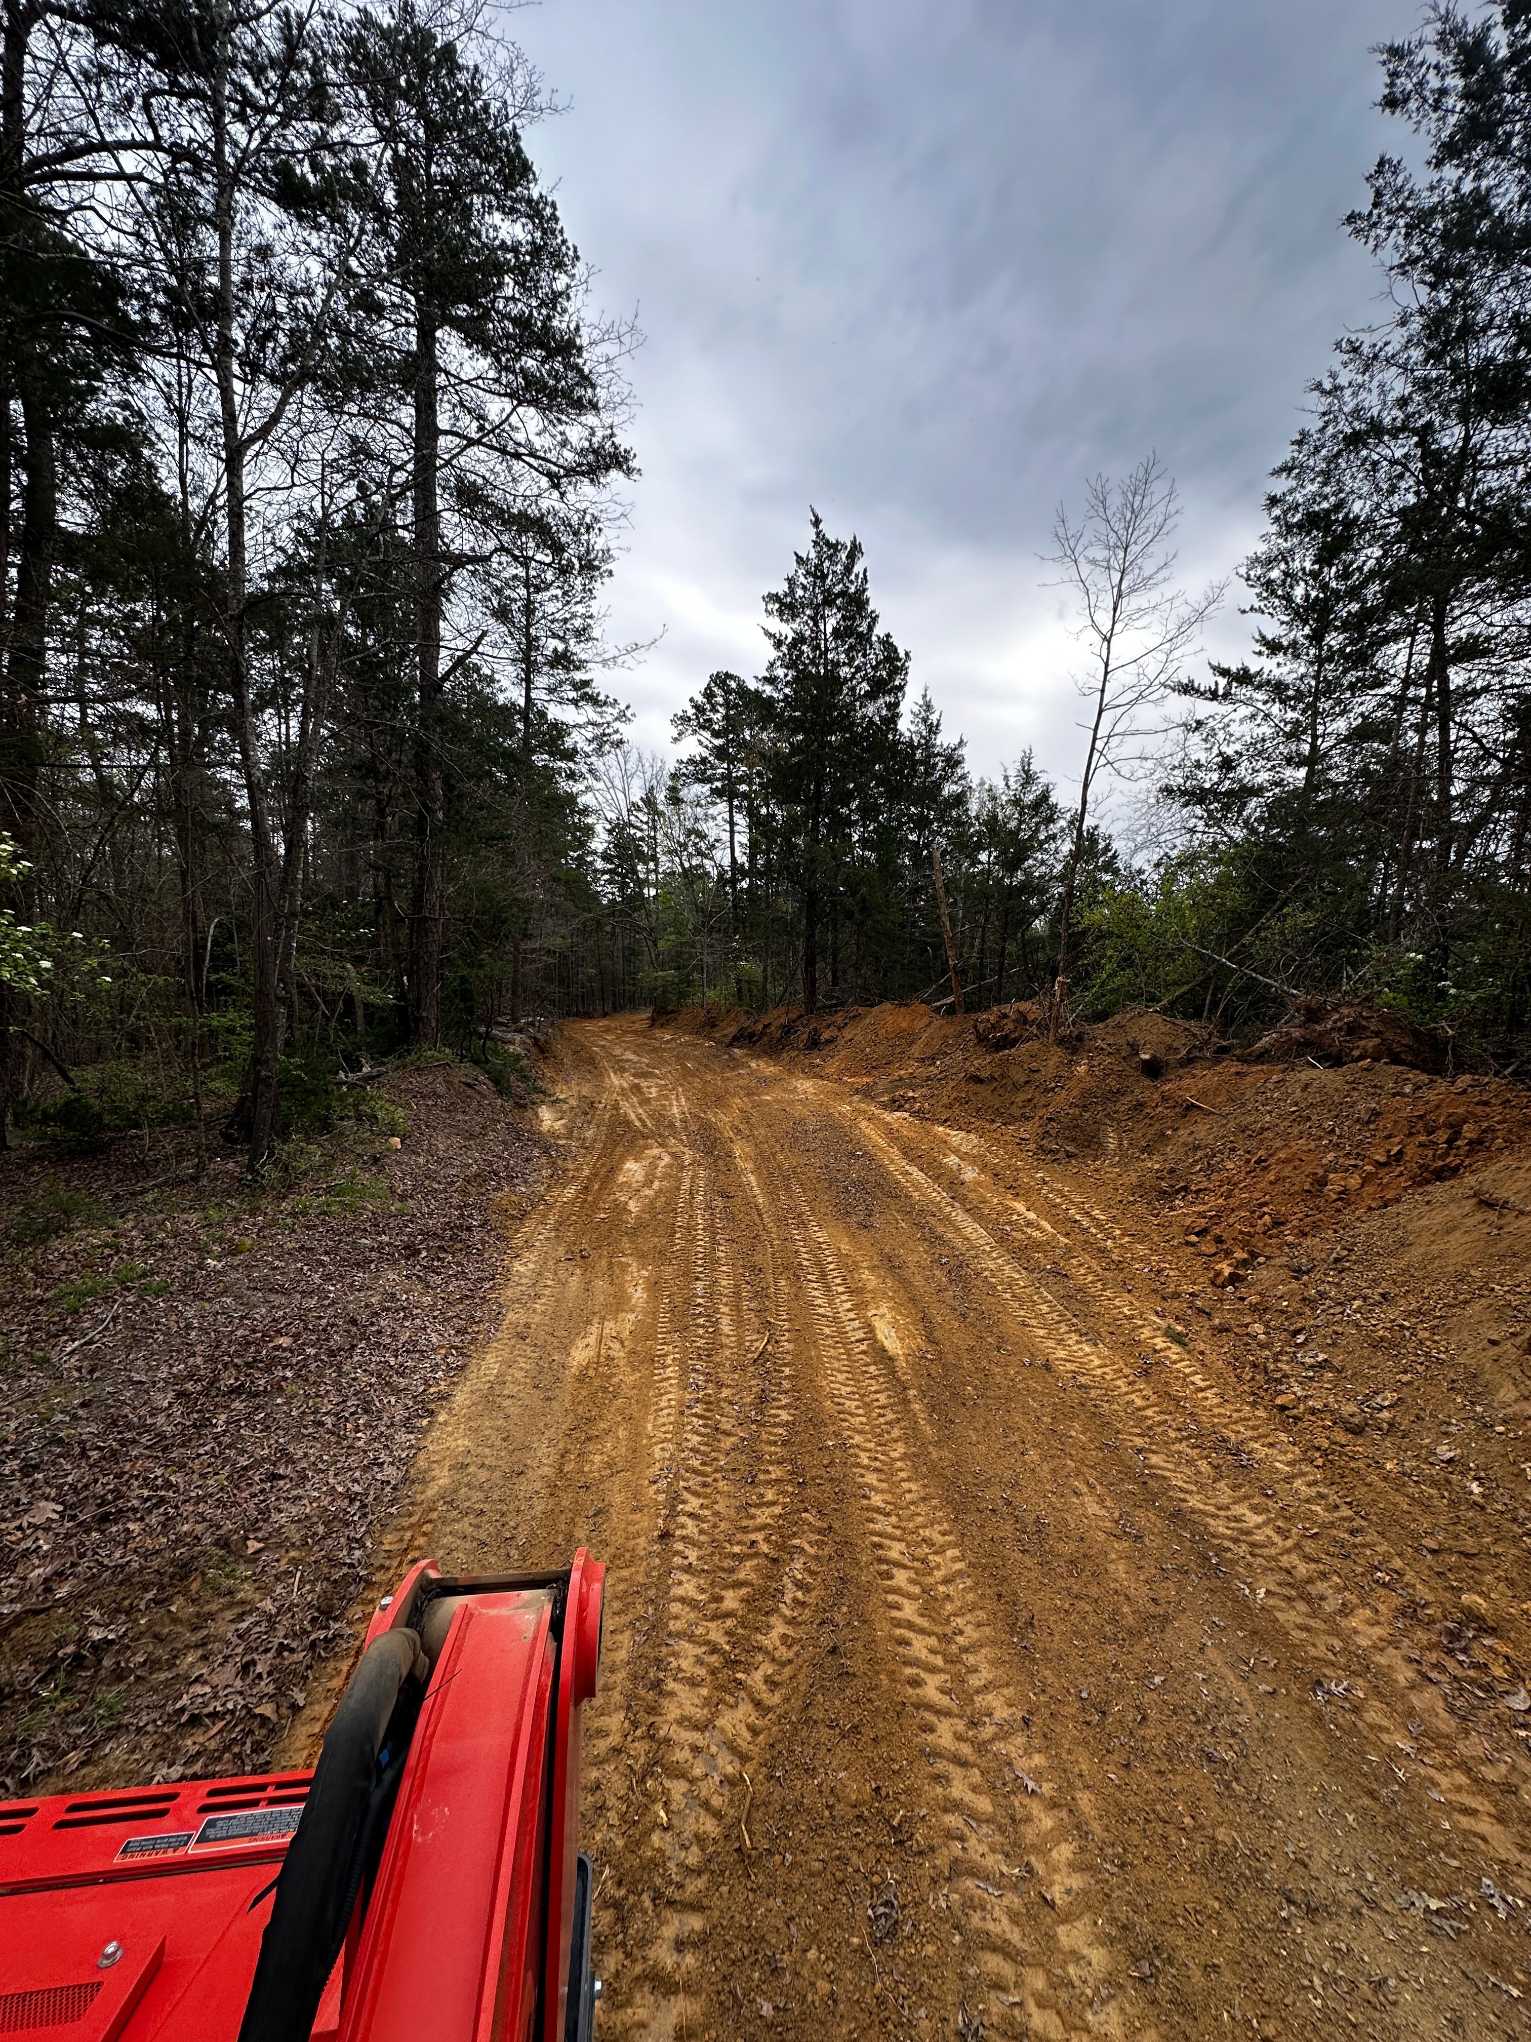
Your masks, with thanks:
[[[1090,704],[1080,772],[1080,805],[1064,866],[1057,911],[1057,970],[1053,976],[1049,1033],[1068,996],[1068,943],[1074,929],[1074,894],[1090,823],[1090,794],[1102,772],[1123,772],[1147,737],[1153,715],[1172,692],[1206,617],[1223,600],[1225,582],[1200,596],[1174,584],[1176,553],[1170,545],[1180,521],[1174,478],[1149,451],[1123,480],[1096,476],[1084,492],[1084,517],[1070,523],[1064,504],[1053,523],[1049,562],[1061,568],[1059,584],[1078,600],[1076,637],[1088,664],[1076,686]]]

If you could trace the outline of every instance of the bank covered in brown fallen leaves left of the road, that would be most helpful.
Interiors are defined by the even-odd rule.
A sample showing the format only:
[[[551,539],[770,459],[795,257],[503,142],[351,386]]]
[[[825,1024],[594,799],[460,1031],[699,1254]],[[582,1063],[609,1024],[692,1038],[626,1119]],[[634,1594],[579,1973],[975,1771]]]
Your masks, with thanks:
[[[372,1097],[286,1188],[0,1158],[0,1799],[265,1766],[349,1640],[545,1158],[472,1068]]]

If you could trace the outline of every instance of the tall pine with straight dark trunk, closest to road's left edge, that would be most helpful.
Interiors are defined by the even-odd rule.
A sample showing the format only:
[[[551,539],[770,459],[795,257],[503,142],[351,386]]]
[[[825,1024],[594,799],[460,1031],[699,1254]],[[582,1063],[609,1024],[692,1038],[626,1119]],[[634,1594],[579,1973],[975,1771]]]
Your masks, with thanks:
[[[343,33],[369,163],[367,349],[378,404],[406,419],[414,564],[416,819],[410,1015],[441,1035],[447,915],[445,694],[484,643],[451,598],[502,566],[547,496],[578,498],[633,474],[612,384],[582,317],[582,272],[521,139],[535,80],[472,61],[437,18],[398,0]],[[523,545],[523,568],[531,553]],[[531,625],[531,609],[527,609]]]

